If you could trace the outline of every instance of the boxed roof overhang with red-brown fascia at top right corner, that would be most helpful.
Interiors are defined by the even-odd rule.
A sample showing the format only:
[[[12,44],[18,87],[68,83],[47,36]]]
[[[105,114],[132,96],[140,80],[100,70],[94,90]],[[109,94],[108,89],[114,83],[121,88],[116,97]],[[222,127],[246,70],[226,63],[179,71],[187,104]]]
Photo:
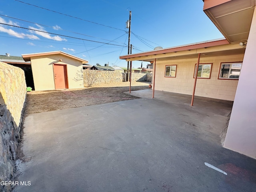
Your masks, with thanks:
[[[232,44],[247,42],[256,0],[204,0],[204,12]]]

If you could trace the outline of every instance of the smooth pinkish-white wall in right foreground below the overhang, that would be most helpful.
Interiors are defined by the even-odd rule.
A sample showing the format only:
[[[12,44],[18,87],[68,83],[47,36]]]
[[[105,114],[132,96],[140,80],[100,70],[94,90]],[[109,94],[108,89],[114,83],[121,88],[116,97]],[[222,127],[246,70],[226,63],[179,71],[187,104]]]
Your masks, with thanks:
[[[224,147],[256,159],[256,9]]]

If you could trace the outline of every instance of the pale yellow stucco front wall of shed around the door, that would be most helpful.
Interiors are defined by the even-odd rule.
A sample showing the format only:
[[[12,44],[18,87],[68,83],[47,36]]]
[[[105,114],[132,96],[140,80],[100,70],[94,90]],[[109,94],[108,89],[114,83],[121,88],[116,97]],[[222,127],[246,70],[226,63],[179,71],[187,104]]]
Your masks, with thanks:
[[[60,62],[59,60],[62,59]],[[69,88],[83,88],[82,81],[78,78],[77,72],[82,70],[82,62],[68,56],[55,54],[49,56],[37,56],[31,58],[31,68],[34,78],[35,90],[54,90],[53,64],[66,64],[68,73]]]

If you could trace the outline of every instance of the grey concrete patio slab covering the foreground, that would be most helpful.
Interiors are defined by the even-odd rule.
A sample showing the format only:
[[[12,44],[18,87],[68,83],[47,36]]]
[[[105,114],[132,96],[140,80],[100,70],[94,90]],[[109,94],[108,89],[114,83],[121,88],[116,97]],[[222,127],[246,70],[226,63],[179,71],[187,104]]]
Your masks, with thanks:
[[[227,121],[199,106],[147,98],[30,114],[28,162],[18,161],[16,179],[31,184],[15,191],[255,191],[256,160],[221,145]]]

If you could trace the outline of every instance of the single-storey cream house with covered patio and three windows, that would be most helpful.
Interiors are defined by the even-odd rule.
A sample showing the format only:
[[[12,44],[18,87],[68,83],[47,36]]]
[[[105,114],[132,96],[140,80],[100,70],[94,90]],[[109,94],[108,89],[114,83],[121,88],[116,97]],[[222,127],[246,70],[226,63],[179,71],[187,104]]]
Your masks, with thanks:
[[[234,101],[224,147],[252,158],[256,158],[255,6],[255,0],[205,0],[204,12],[225,39],[120,56],[153,62],[155,90],[192,95],[195,88],[196,96]]]

